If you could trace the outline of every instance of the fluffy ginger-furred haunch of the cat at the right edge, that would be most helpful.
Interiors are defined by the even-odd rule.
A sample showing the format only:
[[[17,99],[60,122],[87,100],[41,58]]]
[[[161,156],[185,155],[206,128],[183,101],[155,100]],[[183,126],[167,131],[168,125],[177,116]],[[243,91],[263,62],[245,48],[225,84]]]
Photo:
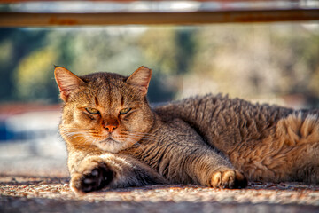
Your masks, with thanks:
[[[278,122],[276,135],[284,135],[278,142],[287,153],[292,180],[319,184],[318,114],[291,114]]]

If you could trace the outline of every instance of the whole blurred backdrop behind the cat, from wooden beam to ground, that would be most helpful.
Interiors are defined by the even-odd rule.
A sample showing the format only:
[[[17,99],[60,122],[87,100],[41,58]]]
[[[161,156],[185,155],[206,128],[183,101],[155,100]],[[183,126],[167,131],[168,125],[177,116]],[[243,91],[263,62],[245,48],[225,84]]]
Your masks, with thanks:
[[[0,174],[67,175],[54,65],[76,75],[150,67],[151,103],[223,93],[317,107],[319,23],[0,28]]]

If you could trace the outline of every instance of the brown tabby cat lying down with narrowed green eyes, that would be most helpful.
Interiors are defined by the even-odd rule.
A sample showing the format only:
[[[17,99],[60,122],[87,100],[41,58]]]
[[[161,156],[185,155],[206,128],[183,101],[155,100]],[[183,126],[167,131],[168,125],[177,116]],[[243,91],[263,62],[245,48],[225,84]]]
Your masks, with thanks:
[[[152,109],[151,70],[78,77],[55,68],[75,193],[106,186],[319,184],[318,110],[207,95]]]

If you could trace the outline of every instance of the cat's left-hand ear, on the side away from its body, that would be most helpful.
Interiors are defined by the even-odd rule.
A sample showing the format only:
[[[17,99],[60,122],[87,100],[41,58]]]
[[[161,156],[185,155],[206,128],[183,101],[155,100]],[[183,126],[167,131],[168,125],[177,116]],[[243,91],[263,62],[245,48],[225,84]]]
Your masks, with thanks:
[[[65,102],[67,101],[71,92],[79,88],[79,86],[84,83],[81,78],[74,75],[71,71],[64,67],[55,67],[54,76],[58,84],[60,97]]]

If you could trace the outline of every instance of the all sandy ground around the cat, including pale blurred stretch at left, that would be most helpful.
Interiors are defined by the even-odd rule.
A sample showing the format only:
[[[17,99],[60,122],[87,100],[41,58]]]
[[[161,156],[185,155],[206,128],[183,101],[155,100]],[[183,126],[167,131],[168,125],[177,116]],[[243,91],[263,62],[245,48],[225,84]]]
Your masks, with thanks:
[[[68,185],[63,143],[45,143],[0,144],[0,212],[319,212],[319,185],[298,183],[152,185],[78,197]]]

